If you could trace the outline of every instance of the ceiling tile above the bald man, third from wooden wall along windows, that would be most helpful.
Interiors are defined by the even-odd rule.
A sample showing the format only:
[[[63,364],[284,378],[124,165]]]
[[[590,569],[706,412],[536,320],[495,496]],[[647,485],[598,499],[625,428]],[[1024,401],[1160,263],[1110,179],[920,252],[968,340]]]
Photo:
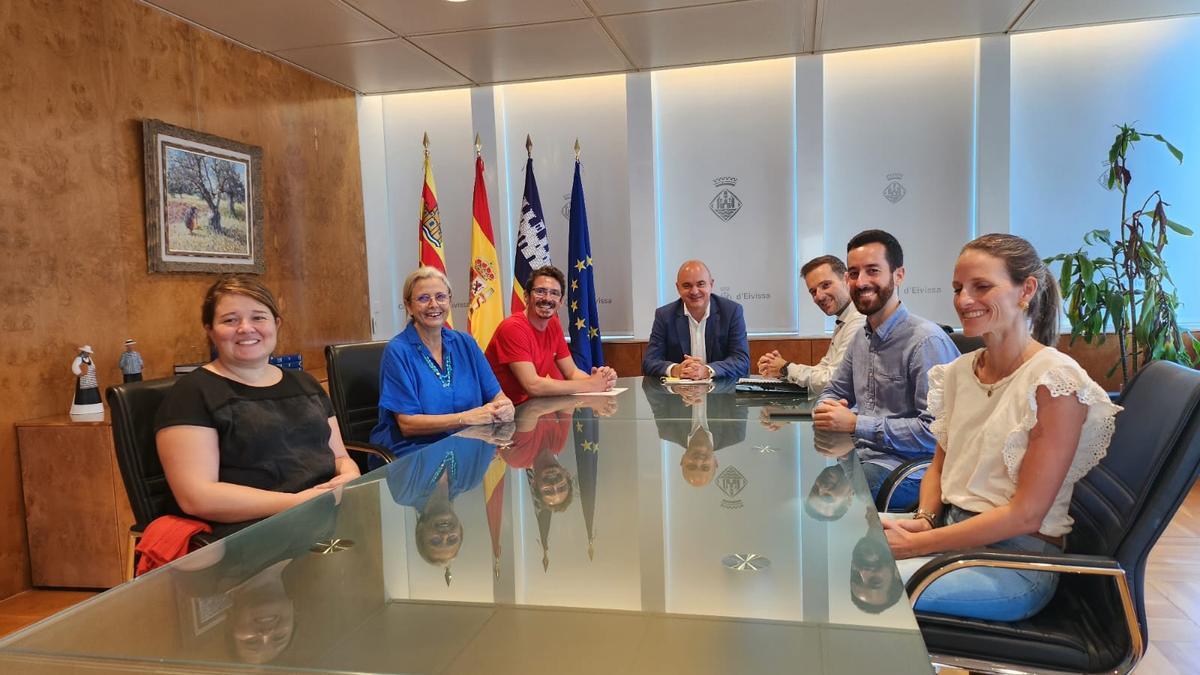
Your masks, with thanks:
[[[640,68],[811,50],[815,0],[749,0],[604,18]]]

